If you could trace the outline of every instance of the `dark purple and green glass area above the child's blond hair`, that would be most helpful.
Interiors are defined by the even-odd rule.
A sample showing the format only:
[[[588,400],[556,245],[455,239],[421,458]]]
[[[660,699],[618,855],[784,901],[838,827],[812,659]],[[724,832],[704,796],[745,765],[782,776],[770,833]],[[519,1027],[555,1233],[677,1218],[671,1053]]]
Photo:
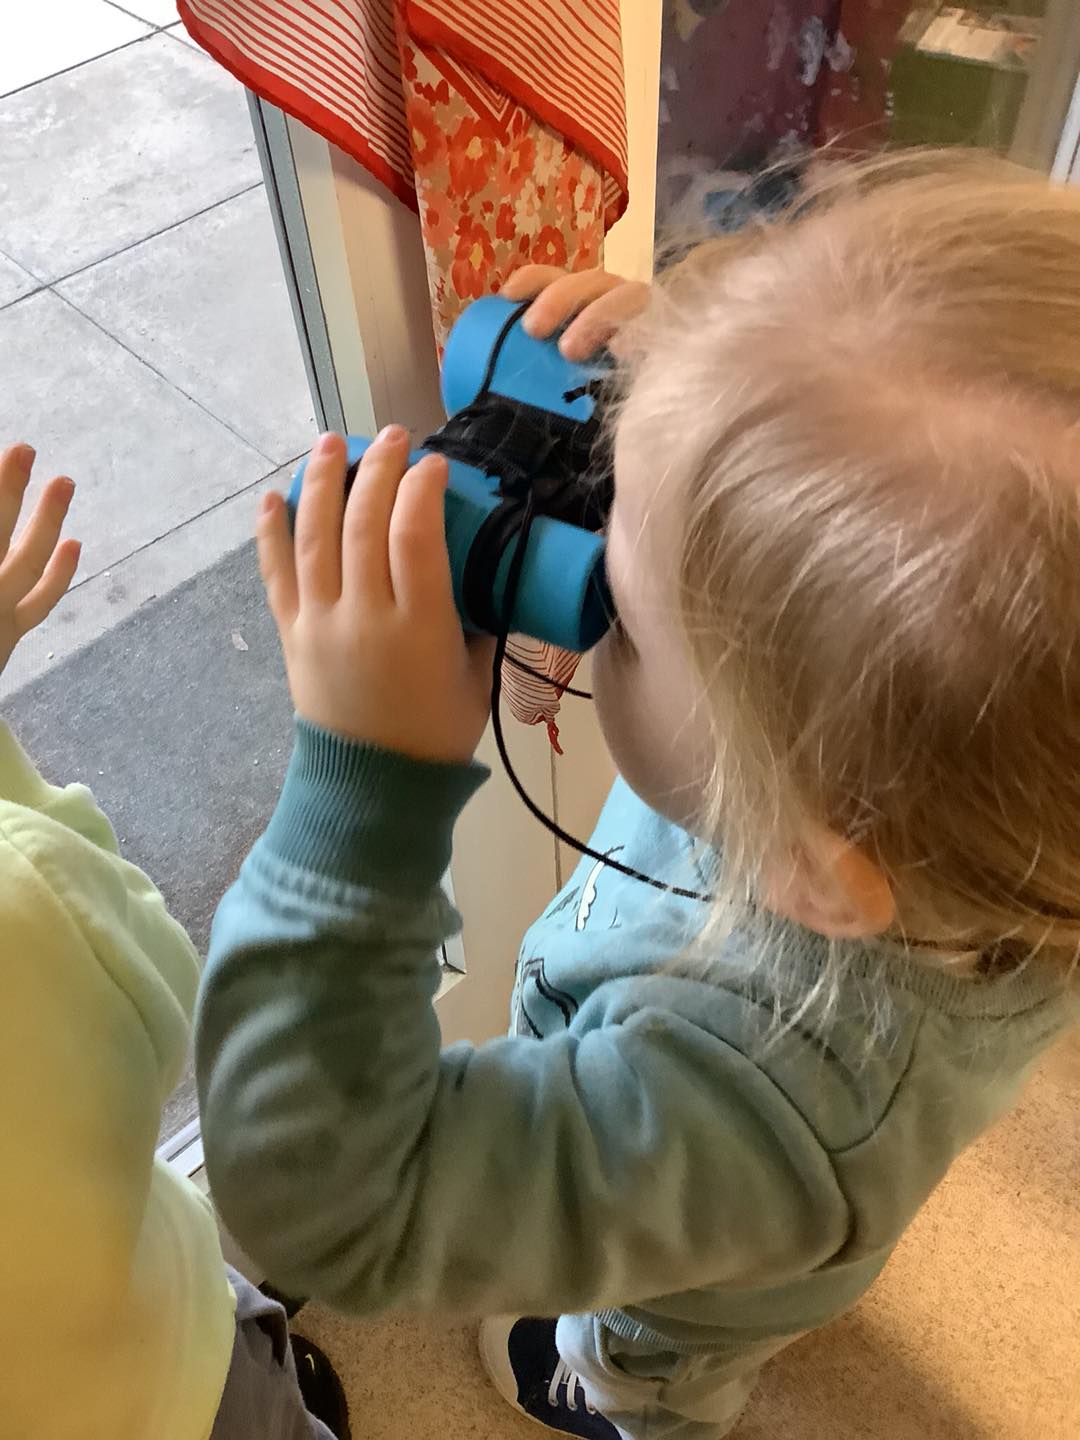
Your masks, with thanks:
[[[979,145],[1060,168],[1079,73],[1076,0],[667,0],[661,222],[717,171],[827,144]]]

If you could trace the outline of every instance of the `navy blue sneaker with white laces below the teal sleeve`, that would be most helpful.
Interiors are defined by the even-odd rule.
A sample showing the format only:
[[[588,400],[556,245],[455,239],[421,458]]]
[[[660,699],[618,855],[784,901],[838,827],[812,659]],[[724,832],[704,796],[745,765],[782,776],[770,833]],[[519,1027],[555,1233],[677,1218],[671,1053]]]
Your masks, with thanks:
[[[484,1320],[480,1358],[500,1395],[530,1420],[582,1440],[622,1440],[585,1398],[580,1375],[554,1344],[554,1320]]]

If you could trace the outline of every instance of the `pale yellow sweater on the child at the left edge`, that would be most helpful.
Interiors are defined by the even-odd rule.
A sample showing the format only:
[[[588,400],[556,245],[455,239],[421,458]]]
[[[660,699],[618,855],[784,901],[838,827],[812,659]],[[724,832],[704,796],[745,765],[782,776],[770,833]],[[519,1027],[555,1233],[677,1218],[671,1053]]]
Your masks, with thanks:
[[[154,1158],[197,956],[3,724],[0,968],[0,1436],[206,1440],[233,1293],[207,1201]]]

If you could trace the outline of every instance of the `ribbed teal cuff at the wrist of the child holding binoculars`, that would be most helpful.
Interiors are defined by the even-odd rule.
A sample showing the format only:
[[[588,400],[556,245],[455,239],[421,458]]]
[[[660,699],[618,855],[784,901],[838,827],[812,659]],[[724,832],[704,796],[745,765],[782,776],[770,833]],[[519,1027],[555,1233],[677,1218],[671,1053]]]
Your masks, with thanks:
[[[425,894],[451,858],[454,824],[490,770],[412,760],[297,720],[264,844],[331,880]]]

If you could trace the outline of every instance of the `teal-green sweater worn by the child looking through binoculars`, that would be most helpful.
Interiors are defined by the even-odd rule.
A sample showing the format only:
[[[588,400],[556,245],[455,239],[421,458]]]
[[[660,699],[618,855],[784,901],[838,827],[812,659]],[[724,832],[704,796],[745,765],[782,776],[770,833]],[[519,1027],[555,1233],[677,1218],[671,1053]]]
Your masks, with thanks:
[[[747,936],[688,960],[700,903],[586,860],[524,939],[516,1032],[442,1050],[439,880],[482,778],[300,726],[197,1012],[230,1230],[285,1289],[356,1312],[593,1312],[733,1358],[828,1320],[1074,1017],[1061,981],[852,948],[827,1035],[766,1047]],[[713,857],[622,783],[593,845],[708,884]],[[824,942],[788,939],[798,992]],[[867,1053],[871,999],[891,1018]]]

